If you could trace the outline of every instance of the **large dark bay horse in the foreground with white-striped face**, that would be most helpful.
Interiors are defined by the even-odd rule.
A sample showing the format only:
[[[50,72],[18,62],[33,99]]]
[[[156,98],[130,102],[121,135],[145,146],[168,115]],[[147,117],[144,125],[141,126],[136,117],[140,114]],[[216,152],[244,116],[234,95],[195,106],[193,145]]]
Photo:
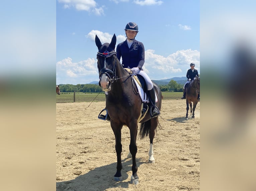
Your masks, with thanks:
[[[98,36],[95,36],[95,43],[99,52],[97,53],[97,65],[99,70],[99,86],[106,94],[106,109],[110,116],[110,125],[115,135],[115,150],[117,154],[117,171],[114,175],[115,181],[122,181],[122,162],[121,162],[121,129],[125,125],[130,130],[129,151],[132,157],[131,184],[138,184],[138,167],[136,164],[136,138],[138,133],[138,123],[140,125],[140,138],[149,135],[149,163],[154,163],[153,139],[156,128],[159,124],[158,116],[151,118],[149,109],[144,113],[144,118],[139,119],[142,113],[143,101],[138,94],[135,82],[116,57],[115,45],[116,35],[114,34],[111,43],[102,45]],[[156,106],[161,109],[162,93],[157,84],[153,83],[158,101]],[[159,124],[160,125],[160,124]],[[129,157],[128,154],[128,157]]]

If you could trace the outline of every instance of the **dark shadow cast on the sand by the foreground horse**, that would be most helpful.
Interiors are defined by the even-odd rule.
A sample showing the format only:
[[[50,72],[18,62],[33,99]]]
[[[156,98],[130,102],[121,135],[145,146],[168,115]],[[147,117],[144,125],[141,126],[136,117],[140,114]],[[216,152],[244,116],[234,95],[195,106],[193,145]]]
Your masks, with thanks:
[[[141,162],[141,159],[136,159],[137,167],[145,162]],[[80,175],[73,180],[56,182],[56,191],[64,190],[76,190],[76,191],[103,191],[108,188],[128,188],[130,183],[130,177],[128,172],[131,172],[132,160],[122,160],[122,182],[116,182],[114,174],[116,173],[116,162],[105,166],[97,167],[86,174]]]

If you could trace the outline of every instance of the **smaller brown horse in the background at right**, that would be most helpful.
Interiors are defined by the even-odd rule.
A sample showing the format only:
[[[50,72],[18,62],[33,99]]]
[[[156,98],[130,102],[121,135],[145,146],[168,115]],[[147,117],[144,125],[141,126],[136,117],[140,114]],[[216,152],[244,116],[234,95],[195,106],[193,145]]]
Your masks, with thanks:
[[[188,115],[188,109],[190,106],[190,113],[192,113],[192,117],[191,118],[195,118],[195,109],[198,103],[198,93],[200,93],[200,78],[196,77],[196,79],[193,82],[190,82],[187,85],[186,88],[186,119],[188,119],[187,115]],[[193,102],[193,109],[192,109],[192,102]],[[189,105],[188,105],[189,104]]]

